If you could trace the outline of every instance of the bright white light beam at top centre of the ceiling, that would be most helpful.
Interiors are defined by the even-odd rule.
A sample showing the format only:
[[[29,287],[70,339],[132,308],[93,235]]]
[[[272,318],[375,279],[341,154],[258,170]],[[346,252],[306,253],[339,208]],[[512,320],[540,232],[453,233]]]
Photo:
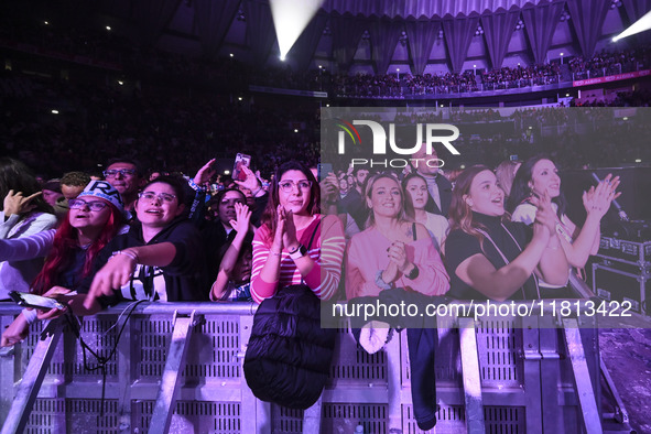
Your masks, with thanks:
[[[270,0],[280,59],[284,61],[325,0]]]

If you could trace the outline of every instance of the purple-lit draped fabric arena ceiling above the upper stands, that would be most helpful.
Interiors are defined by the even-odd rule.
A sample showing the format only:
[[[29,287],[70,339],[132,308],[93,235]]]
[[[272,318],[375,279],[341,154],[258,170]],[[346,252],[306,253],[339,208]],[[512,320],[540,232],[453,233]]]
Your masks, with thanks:
[[[206,57],[232,54],[260,66],[278,55],[269,0],[96,4],[137,29],[145,45]],[[469,57],[500,67],[513,52],[544,63],[553,46],[592,56],[649,10],[651,0],[325,0],[287,58],[300,69],[324,62],[338,70],[362,58],[379,73],[402,62],[415,74],[433,63],[460,72]]]

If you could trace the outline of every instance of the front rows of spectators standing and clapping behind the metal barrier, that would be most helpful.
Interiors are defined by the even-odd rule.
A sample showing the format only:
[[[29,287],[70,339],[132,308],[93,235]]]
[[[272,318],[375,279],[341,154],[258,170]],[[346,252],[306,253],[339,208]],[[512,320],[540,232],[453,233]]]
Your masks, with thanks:
[[[113,159],[99,176],[64,175],[65,196],[63,181],[39,184],[4,158],[0,297],[18,289],[89,315],[128,300],[259,303],[302,282],[322,300],[404,287],[457,299],[576,295],[567,272],[598,250],[619,178],[584,193],[578,226],[546,156],[511,162],[497,177],[475,165],[454,184],[427,164],[435,152],[412,156],[406,172],[335,170],[321,182],[295,160],[270,180],[245,166],[243,181],[223,180],[217,192],[215,160],[183,177]],[[2,345],[57,315],[23,311]]]

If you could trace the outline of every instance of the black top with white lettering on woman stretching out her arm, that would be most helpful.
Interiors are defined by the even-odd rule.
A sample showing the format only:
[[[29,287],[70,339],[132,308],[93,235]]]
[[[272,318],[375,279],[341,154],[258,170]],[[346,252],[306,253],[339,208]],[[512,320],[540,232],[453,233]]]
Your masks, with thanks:
[[[176,248],[172,262],[162,268],[138,264],[130,282],[119,290],[116,289],[113,297],[102,300],[102,305],[112,305],[123,300],[160,300],[161,294],[165,294],[169,302],[208,300],[206,264],[199,232],[184,218],[174,220],[147,243],[142,239],[141,225],[135,224],[128,234],[116,237],[102,249],[96,261],[95,272],[106,264],[113,251],[160,242],[172,242]],[[90,286],[95,272],[85,281],[85,291]]]

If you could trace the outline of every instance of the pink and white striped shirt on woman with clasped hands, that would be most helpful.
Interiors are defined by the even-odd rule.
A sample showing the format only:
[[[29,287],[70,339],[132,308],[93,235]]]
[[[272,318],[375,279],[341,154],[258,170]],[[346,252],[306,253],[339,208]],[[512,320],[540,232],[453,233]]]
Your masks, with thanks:
[[[317,223],[321,219],[321,225]],[[329,300],[337,291],[341,279],[341,263],[344,260],[344,226],[336,216],[318,216],[306,228],[296,230],[296,239],[307,247],[314,228],[316,234],[307,254],[314,261],[314,267],[302,276],[290,253],[283,249],[280,261],[280,279],[278,282],[265,282],[260,276],[267,260],[273,237],[270,228],[262,225],[253,237],[253,270],[251,273],[251,295],[257,303],[275,294],[279,287],[300,284],[303,280],[314,294],[322,300]]]

